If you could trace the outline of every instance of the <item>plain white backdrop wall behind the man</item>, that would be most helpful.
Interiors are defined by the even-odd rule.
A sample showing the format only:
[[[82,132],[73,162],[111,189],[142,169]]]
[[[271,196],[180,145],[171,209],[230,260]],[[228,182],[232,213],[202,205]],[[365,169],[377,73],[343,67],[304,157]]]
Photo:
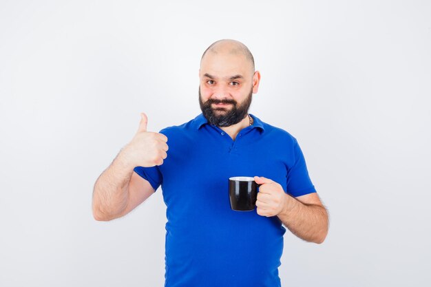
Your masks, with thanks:
[[[0,286],[162,286],[157,191],[112,222],[96,178],[148,128],[200,113],[213,41],[262,73],[251,113],[301,145],[330,211],[285,235],[283,286],[430,282],[430,1],[0,2]]]

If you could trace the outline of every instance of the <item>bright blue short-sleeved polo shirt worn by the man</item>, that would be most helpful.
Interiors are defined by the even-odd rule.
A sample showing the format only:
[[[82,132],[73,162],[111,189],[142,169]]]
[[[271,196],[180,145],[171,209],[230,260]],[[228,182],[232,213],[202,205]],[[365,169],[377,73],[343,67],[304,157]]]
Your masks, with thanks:
[[[202,114],[160,131],[167,158],[135,167],[167,206],[165,286],[280,286],[286,231],[277,216],[232,211],[229,178],[264,176],[294,197],[315,192],[297,140],[253,117],[235,140]]]

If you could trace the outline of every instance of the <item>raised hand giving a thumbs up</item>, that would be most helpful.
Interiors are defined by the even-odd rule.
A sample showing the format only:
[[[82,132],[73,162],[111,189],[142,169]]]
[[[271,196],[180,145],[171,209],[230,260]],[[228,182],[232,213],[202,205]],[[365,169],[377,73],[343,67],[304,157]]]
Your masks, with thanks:
[[[138,131],[125,146],[125,160],[134,167],[154,167],[163,164],[167,157],[167,137],[164,134],[147,131],[147,115],[140,114]]]

